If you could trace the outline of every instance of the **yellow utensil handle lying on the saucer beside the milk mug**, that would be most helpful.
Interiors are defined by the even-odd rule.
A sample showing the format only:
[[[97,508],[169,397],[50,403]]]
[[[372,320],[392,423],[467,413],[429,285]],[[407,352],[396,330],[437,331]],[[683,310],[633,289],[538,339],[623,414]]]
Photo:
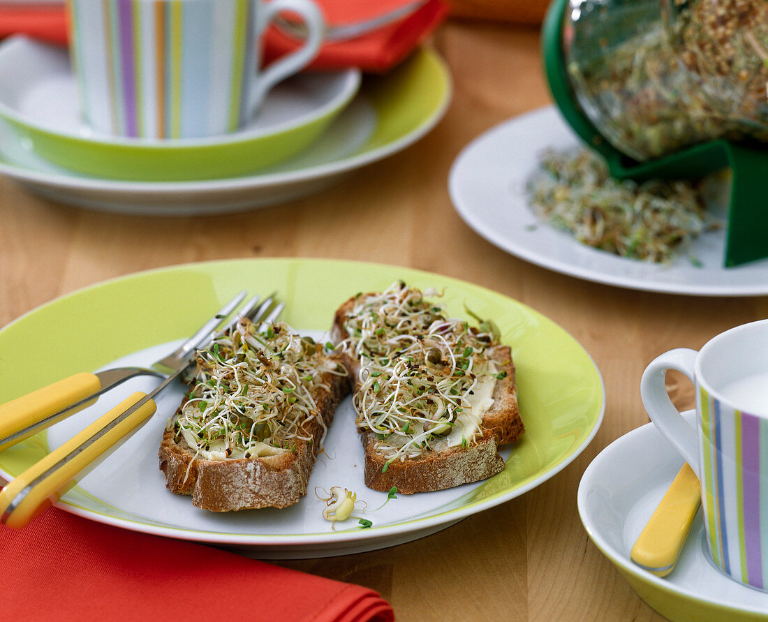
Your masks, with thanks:
[[[686,462],[634,543],[632,561],[657,577],[670,574],[700,503],[699,479]]]

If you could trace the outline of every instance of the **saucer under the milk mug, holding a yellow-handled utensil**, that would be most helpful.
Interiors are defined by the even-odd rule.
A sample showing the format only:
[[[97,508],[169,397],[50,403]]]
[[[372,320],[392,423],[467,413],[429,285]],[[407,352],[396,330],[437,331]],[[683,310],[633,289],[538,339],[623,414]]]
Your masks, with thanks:
[[[693,422],[695,412],[684,416]],[[589,537],[637,594],[670,620],[768,618],[768,594],[731,580],[711,561],[700,511],[667,577],[632,563],[634,541],[682,465],[683,458],[651,423],[604,448],[578,489],[578,511]]]

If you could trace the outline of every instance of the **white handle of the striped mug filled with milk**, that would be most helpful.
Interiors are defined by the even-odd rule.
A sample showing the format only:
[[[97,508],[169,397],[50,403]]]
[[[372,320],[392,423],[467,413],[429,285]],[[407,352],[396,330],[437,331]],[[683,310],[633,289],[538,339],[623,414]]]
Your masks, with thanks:
[[[698,352],[688,348],[677,348],[657,356],[643,372],[640,380],[640,396],[645,410],[659,432],[674,445],[685,458],[685,462],[699,475],[699,444],[696,430],[674,407],[664,377],[667,369],[676,369],[690,382],[694,382],[694,363]]]

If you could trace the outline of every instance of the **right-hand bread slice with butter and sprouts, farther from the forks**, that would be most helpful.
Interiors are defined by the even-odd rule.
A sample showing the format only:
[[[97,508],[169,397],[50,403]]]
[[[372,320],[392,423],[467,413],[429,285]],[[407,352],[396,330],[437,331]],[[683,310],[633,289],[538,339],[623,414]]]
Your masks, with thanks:
[[[524,432],[511,349],[490,323],[450,319],[434,293],[394,283],[337,309],[332,340],[353,379],[369,488],[434,491],[504,468]]]

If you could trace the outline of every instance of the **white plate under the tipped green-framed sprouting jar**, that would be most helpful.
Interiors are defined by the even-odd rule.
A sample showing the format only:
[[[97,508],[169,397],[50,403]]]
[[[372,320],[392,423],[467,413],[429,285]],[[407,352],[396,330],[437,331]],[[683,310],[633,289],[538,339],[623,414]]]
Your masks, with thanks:
[[[768,293],[768,260],[723,267],[724,231],[706,233],[692,246],[703,264],[687,256],[670,265],[625,259],[577,242],[542,224],[529,207],[528,182],[542,152],[580,144],[554,108],[505,121],[468,144],[449,178],[459,215],[499,248],[549,270],[597,283],[695,296],[756,296]]]

